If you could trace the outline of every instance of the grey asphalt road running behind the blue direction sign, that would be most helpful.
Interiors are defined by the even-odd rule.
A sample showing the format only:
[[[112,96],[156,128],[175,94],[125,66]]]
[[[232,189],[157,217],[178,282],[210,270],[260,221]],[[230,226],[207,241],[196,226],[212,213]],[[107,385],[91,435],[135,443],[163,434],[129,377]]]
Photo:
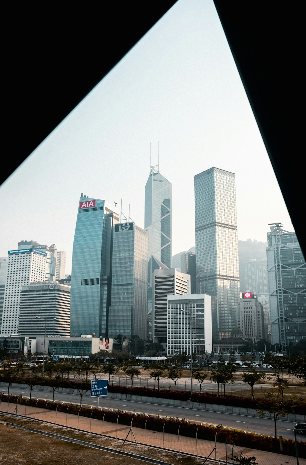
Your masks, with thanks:
[[[1,387],[0,392],[7,393],[7,389]],[[12,395],[22,394],[23,397],[29,397],[30,390],[26,388],[10,388],[9,393]],[[35,399],[45,399],[52,401],[52,392],[38,391],[33,388],[32,397]],[[78,394],[55,392],[54,401],[79,404],[80,396]],[[91,398],[90,395],[84,395],[82,399],[84,406],[97,407],[97,398]],[[171,407],[167,405],[147,404],[143,402],[108,399],[107,397],[99,398],[99,408],[111,410],[121,410],[126,412],[147,413],[150,415],[159,415],[160,417],[177,417],[186,419],[190,422],[202,423],[202,425],[223,425],[224,428],[239,429],[246,432],[259,434],[274,435],[274,421],[265,418],[247,417],[243,415],[234,415],[231,413],[208,412],[203,410],[188,409],[182,407]],[[277,421],[277,434],[283,438],[294,439],[294,423],[285,420]],[[298,435],[299,440],[306,440],[305,436]]]

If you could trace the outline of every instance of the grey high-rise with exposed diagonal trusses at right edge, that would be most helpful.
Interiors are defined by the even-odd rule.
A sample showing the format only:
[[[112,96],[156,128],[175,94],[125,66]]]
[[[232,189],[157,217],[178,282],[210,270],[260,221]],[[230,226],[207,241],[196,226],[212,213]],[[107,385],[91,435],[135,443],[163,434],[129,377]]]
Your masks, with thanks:
[[[306,340],[306,264],[295,233],[274,223],[267,233],[272,344]]]

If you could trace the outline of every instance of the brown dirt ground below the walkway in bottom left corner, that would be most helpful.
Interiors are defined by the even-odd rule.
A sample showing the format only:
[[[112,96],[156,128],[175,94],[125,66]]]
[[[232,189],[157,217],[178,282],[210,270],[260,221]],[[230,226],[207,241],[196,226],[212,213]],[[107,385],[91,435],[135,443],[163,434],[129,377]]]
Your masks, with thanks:
[[[112,449],[162,460],[168,464],[195,465],[196,459],[182,456],[178,453],[163,452],[150,447],[120,444],[115,440],[66,430],[60,426],[34,423],[29,420],[14,419],[11,416],[0,415],[0,463],[2,465],[144,465],[148,462],[133,457],[126,457],[113,452],[93,449],[58,438],[49,438],[34,432],[13,428],[6,422],[19,424],[40,431],[52,432],[69,438],[79,439],[92,444],[102,445]]]

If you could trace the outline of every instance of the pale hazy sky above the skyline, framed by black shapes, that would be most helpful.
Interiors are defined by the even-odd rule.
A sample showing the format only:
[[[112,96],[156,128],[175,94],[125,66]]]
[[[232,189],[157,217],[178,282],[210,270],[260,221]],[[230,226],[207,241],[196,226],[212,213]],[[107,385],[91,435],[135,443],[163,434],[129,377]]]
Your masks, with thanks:
[[[266,242],[268,223],[293,231],[212,0],[179,0],[0,186],[0,257],[55,243],[70,273],[81,193],[144,227],[158,161],[173,255],[195,246],[194,176],[212,166],[235,173],[239,240]]]

